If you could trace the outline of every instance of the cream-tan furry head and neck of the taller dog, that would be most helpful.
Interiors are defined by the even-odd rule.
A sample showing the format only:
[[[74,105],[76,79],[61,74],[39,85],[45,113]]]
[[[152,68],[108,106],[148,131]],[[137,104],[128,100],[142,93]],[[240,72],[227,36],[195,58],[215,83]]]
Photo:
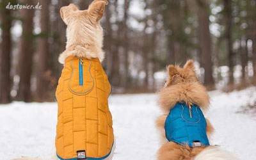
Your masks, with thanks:
[[[64,64],[68,56],[104,60],[100,19],[106,4],[106,0],[94,0],[88,10],[78,10],[74,4],[61,8],[61,18],[67,24],[67,45],[66,50],[60,54],[60,63]]]

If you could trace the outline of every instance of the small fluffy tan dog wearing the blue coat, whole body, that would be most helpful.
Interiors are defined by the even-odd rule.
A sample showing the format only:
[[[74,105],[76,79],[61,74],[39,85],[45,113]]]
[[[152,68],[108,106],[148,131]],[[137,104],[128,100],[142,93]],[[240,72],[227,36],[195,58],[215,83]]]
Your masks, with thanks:
[[[158,160],[237,159],[209,144],[208,138],[214,129],[202,113],[209,108],[209,95],[196,78],[192,60],[184,68],[168,67],[168,77],[159,92],[158,103],[164,112],[156,120],[162,145],[157,152]]]

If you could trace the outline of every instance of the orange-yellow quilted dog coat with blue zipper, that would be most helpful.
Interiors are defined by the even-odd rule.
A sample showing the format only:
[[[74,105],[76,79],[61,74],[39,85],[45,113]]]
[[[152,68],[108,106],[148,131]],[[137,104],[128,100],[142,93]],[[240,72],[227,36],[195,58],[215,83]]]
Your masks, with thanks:
[[[108,108],[111,85],[98,58],[68,57],[56,90],[59,159],[105,159],[114,134]]]

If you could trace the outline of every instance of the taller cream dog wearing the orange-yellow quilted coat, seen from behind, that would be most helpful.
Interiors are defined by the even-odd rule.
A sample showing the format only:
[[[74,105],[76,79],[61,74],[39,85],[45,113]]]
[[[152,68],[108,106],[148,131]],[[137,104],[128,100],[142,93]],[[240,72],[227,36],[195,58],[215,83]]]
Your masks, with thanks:
[[[112,88],[100,63],[104,60],[100,19],[107,4],[107,0],[94,0],[88,10],[74,4],[60,9],[67,24],[67,45],[59,57],[64,67],[56,89],[58,124],[52,159],[113,158],[115,140],[108,108]],[[22,158],[32,159],[36,160]]]

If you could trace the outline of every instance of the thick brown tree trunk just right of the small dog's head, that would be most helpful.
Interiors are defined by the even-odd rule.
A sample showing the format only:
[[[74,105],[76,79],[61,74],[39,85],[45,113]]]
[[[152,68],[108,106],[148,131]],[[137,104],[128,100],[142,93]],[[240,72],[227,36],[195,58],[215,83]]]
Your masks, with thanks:
[[[198,0],[200,1],[200,0]],[[199,45],[202,59],[202,67],[204,68],[204,84],[214,87],[212,77],[212,51],[211,51],[211,33],[209,29],[209,13],[208,5],[201,1],[198,8],[199,17]]]

